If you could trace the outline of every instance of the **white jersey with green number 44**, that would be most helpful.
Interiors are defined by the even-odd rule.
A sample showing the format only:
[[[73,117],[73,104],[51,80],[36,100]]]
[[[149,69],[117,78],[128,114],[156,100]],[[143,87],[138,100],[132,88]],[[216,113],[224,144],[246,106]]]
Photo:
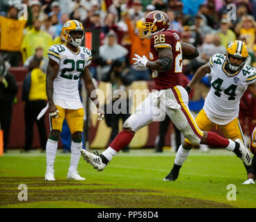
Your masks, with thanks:
[[[211,121],[225,125],[238,117],[241,96],[248,85],[255,83],[255,69],[245,65],[240,71],[228,74],[224,69],[225,57],[221,54],[211,56],[209,66],[211,89],[203,109]]]

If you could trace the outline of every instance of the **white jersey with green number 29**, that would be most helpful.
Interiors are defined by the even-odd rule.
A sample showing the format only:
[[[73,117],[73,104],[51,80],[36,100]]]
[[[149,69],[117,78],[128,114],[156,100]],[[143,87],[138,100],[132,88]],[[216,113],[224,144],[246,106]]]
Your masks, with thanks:
[[[79,78],[83,69],[90,65],[91,51],[79,46],[79,51],[74,53],[64,44],[54,44],[49,48],[48,58],[59,65],[54,79],[54,104],[62,108],[81,108]]]

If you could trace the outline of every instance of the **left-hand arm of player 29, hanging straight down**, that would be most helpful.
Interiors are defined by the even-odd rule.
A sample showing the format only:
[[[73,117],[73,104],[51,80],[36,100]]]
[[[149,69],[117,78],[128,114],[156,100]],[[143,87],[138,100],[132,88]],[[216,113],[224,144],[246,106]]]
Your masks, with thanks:
[[[54,99],[53,99],[54,78],[56,78],[58,74],[58,67],[59,67],[58,63],[49,58],[47,71],[46,71],[46,92],[47,92],[47,99],[49,103],[49,113],[53,114],[51,115],[52,117],[55,117],[58,115],[58,113],[56,113],[57,108],[54,105]]]

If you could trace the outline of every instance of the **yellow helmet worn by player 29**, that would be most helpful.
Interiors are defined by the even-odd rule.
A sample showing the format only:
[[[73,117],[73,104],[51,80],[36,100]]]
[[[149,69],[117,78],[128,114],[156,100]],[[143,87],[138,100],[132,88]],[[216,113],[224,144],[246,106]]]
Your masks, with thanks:
[[[72,36],[70,35],[71,31],[81,31],[81,33],[82,33],[81,39],[73,40]],[[72,44],[73,46],[77,46],[77,47],[80,46],[81,42],[83,41],[83,34],[84,34],[83,25],[81,24],[81,22],[78,22],[75,19],[68,20],[63,25],[62,30],[61,30],[61,35],[62,35],[63,40],[65,40],[65,42],[68,42],[68,43]]]

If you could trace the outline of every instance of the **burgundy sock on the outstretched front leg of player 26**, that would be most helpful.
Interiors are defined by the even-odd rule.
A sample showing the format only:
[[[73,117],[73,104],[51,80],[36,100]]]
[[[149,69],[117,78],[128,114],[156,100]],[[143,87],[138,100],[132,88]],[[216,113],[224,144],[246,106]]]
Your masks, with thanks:
[[[122,148],[131,142],[132,138],[134,138],[134,133],[131,133],[128,130],[122,130],[110,144],[110,147],[113,148],[116,152],[119,152],[122,150]]]

